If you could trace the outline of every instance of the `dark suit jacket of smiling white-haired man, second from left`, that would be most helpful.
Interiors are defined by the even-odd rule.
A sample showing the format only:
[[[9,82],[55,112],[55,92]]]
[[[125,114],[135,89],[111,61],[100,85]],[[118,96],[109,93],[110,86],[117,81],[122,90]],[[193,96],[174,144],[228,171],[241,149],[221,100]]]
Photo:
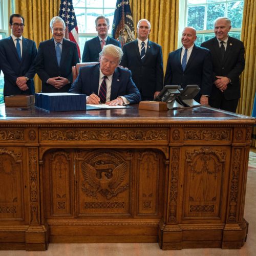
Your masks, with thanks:
[[[72,66],[79,62],[77,47],[74,42],[63,39],[60,66],[58,66],[56,50],[53,38],[40,42],[36,57],[36,73],[42,81],[42,92],[68,92],[71,83],[66,84],[61,89],[56,89],[46,81],[51,77],[65,77],[72,81]]]

